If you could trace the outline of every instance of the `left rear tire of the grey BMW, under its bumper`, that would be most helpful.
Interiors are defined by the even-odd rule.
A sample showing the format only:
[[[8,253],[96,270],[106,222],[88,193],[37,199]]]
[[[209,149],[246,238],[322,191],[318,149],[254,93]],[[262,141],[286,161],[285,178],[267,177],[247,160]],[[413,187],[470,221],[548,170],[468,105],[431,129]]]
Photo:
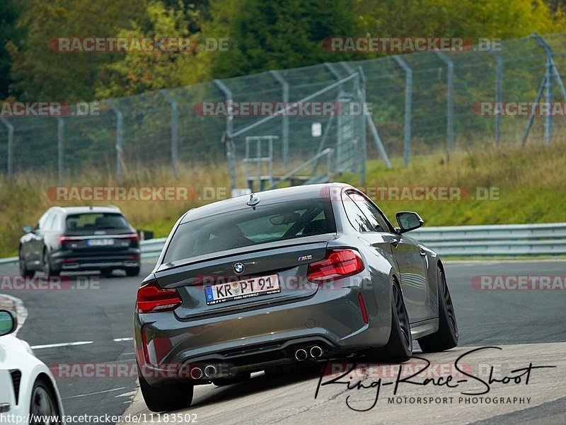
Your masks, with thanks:
[[[151,412],[169,412],[171,410],[185,409],[192,403],[192,392],[195,385],[192,383],[175,383],[163,385],[163,387],[152,387],[147,381],[138,377],[141,395]]]

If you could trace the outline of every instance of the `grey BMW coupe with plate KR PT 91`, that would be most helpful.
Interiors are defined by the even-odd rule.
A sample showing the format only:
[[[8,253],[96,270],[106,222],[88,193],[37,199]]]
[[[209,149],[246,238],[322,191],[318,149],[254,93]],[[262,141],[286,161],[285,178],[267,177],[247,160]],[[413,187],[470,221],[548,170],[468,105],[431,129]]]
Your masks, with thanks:
[[[226,199],[175,224],[134,313],[141,392],[155,412],[194,385],[344,357],[405,361],[456,347],[439,256],[355,187],[304,185]]]

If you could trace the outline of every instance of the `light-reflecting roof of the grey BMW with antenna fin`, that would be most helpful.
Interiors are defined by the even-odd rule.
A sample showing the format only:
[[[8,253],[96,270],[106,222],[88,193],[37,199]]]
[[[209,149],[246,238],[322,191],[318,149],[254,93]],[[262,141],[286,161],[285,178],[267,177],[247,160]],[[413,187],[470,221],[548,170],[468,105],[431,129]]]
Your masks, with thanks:
[[[277,202],[289,200],[305,200],[305,199],[332,199],[330,197],[330,187],[352,187],[345,183],[323,183],[319,185],[301,185],[293,187],[284,187],[282,189],[265,190],[263,192],[255,192],[255,196],[259,197],[258,206],[275,204]],[[193,208],[183,216],[181,223],[202,219],[206,216],[213,216],[226,211],[235,211],[237,209],[251,208],[246,202],[250,200],[250,194],[224,199],[222,201],[213,202],[204,206]]]

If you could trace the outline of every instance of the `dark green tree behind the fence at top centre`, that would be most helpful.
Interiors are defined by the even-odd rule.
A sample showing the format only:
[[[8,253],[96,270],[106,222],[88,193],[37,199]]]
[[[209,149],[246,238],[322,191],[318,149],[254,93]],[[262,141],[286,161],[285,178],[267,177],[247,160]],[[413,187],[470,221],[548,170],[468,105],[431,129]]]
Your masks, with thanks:
[[[353,6],[352,0],[214,0],[203,33],[229,38],[230,49],[203,57],[214,78],[352,59],[321,44],[357,33]]]

